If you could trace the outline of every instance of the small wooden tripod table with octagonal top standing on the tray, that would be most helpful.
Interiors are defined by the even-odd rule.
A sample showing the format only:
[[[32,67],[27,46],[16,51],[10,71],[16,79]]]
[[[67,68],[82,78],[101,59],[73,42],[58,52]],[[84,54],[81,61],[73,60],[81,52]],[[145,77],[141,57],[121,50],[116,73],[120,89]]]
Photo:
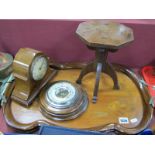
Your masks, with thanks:
[[[119,48],[134,40],[131,28],[107,20],[86,21],[79,24],[76,34],[87,45],[89,49],[96,51],[96,59],[82,69],[77,83],[81,84],[82,78],[90,73],[96,72],[96,82],[93,94],[93,103],[97,101],[100,74],[108,74],[113,82],[114,89],[119,89],[116,72],[107,61],[108,52],[116,52]]]

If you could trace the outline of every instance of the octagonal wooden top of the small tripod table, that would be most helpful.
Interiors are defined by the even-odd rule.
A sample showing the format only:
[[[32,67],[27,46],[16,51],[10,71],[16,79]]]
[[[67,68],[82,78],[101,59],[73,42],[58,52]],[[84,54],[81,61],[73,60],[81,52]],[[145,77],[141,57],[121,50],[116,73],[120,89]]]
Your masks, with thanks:
[[[90,47],[109,49],[119,49],[134,40],[131,28],[108,20],[82,22],[76,34]]]

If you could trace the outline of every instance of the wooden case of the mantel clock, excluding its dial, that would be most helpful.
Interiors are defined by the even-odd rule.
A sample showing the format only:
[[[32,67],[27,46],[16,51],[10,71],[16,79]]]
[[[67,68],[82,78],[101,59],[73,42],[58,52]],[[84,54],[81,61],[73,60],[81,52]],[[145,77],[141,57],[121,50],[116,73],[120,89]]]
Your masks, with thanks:
[[[30,105],[40,90],[55,75],[56,71],[47,69],[46,75],[42,80],[35,81],[31,75],[31,66],[33,60],[38,56],[45,56],[42,52],[21,48],[15,56],[13,62],[13,75],[15,77],[15,88],[11,98],[22,105]],[[45,56],[48,61],[48,58]]]

